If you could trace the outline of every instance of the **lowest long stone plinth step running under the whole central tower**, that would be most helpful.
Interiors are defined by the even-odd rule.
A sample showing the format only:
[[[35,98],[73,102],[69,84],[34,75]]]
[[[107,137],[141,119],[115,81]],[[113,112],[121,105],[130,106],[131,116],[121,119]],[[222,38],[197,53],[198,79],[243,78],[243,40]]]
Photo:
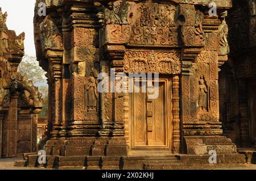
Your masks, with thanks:
[[[209,169],[225,164],[245,163],[242,154],[219,154],[217,164],[209,164],[210,155],[148,155],[148,156],[47,156],[47,164],[36,164],[38,155],[28,155],[26,163],[16,161],[15,166],[46,167],[48,169],[85,170],[151,170],[151,169]],[[24,163],[20,165],[19,163]]]

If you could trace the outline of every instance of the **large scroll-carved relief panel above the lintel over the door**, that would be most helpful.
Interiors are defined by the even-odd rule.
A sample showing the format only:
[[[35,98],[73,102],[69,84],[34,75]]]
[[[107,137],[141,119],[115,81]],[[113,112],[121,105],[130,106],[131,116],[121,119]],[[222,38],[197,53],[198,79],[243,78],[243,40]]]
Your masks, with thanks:
[[[175,24],[176,7],[143,3],[134,6],[129,44],[137,45],[180,45],[178,28]]]

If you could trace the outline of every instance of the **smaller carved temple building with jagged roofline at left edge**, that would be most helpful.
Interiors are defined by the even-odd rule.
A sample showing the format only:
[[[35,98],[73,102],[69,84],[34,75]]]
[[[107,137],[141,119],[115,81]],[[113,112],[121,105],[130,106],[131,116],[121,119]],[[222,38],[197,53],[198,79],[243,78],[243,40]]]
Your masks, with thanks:
[[[6,27],[7,13],[0,8],[0,158],[36,151],[38,113],[42,94],[17,72],[24,55],[24,33]]]

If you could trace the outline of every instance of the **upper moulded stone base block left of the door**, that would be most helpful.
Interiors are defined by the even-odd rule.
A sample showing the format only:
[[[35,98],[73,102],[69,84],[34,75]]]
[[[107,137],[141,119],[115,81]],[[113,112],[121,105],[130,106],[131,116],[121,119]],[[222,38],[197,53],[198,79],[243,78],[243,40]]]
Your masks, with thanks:
[[[54,156],[121,156],[127,155],[126,140],[123,137],[88,137],[47,141],[44,146],[47,155]]]

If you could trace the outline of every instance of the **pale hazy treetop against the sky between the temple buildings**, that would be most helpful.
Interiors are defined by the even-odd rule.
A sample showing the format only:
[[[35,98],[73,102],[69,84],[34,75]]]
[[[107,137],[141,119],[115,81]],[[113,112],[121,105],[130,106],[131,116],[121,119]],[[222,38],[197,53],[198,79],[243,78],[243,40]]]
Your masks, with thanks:
[[[36,57],[25,55],[19,64],[18,71],[22,75],[27,74],[27,78],[33,83],[46,82],[46,72],[40,68]]]

